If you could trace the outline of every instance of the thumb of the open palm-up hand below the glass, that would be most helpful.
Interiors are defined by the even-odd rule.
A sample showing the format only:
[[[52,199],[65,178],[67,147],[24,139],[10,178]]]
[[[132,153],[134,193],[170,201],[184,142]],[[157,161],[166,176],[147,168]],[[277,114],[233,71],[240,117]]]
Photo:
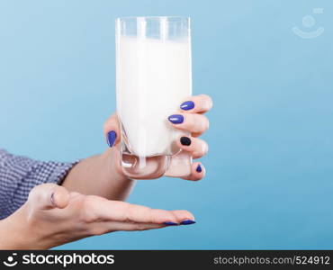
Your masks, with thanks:
[[[67,189],[58,184],[40,184],[31,189],[28,202],[40,210],[65,208],[69,202]]]

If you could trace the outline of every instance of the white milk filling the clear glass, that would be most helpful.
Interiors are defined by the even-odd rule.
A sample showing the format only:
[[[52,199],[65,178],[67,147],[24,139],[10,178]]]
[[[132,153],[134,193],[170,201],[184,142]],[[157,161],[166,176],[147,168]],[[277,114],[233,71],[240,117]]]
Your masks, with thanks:
[[[191,45],[120,37],[117,42],[117,113],[130,153],[172,155],[181,131],[167,117],[192,94]]]

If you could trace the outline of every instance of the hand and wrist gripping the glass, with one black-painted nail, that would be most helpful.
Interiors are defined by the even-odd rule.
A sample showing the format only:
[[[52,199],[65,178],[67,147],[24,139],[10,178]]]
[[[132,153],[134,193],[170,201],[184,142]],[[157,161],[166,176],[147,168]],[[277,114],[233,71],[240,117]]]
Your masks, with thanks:
[[[200,94],[190,96],[179,104],[179,112],[168,117],[169,123],[175,129],[184,130],[191,134],[190,137],[177,139],[177,145],[184,152],[180,155],[191,156],[194,159],[204,156],[208,151],[208,145],[198,137],[209,128],[209,121],[203,115],[211,109],[212,102],[208,95]],[[87,157],[74,166],[62,183],[68,191],[89,195],[98,195],[103,198],[123,201],[130,194],[135,180],[123,174],[120,167],[120,128],[115,114],[104,123],[104,136],[110,148],[102,154]],[[148,163],[154,167],[157,162],[154,157],[149,157]],[[176,164],[176,158],[171,160]],[[187,180],[200,180],[205,175],[204,166],[200,162],[193,162],[191,174],[183,178]],[[168,171],[166,172],[168,174]],[[156,177],[151,177],[156,178]]]

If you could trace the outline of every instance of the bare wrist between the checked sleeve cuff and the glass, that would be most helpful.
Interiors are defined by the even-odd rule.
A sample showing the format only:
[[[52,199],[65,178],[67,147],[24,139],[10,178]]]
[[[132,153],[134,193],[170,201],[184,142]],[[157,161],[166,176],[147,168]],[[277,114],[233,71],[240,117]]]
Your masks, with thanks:
[[[101,155],[85,158],[70,170],[62,185],[69,191],[125,200],[135,181],[121,173],[117,155],[116,148],[109,148]]]

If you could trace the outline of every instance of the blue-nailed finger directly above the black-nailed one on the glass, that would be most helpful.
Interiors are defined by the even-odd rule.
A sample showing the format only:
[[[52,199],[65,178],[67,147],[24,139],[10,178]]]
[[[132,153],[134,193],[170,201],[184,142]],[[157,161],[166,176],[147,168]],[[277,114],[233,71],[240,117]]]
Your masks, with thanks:
[[[175,129],[191,132],[193,137],[200,136],[210,125],[208,118],[198,113],[180,112],[170,115],[168,121]]]

